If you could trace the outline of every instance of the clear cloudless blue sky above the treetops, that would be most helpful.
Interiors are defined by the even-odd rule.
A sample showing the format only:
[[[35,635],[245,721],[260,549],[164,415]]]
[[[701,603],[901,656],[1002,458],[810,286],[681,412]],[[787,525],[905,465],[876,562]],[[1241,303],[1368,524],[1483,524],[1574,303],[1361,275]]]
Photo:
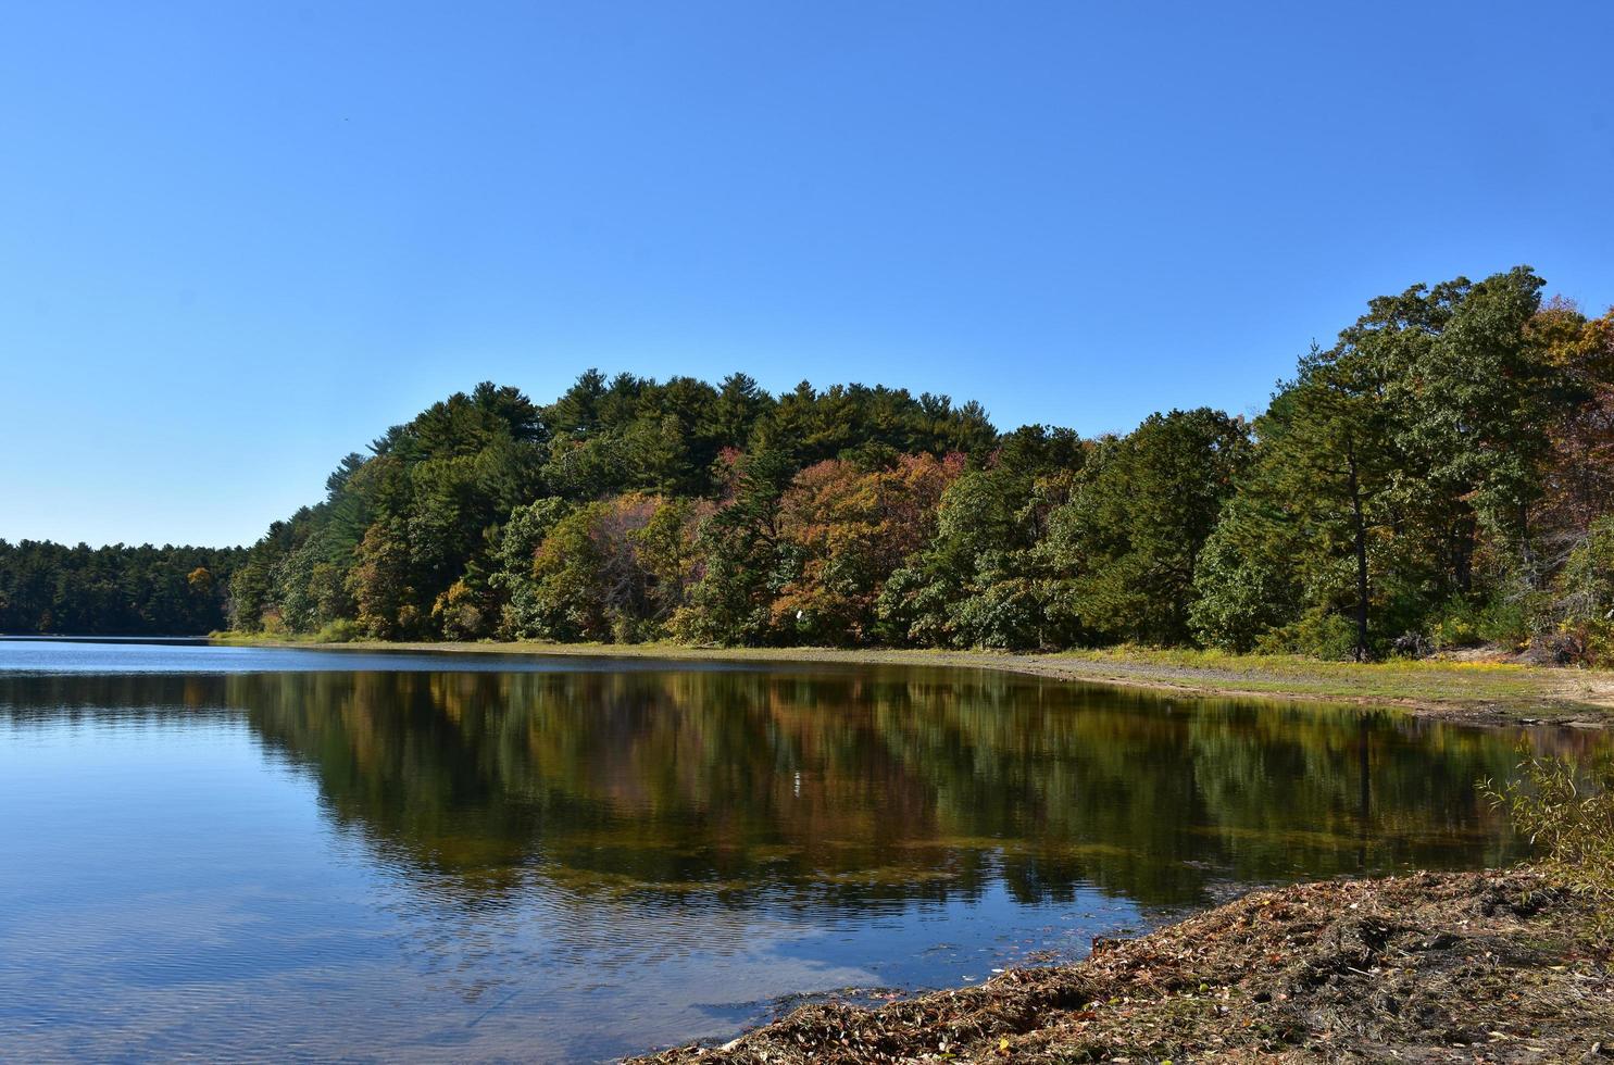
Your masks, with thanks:
[[[1367,297],[1614,302],[1614,5],[11,3],[0,537],[250,542],[581,370],[1264,405]]]

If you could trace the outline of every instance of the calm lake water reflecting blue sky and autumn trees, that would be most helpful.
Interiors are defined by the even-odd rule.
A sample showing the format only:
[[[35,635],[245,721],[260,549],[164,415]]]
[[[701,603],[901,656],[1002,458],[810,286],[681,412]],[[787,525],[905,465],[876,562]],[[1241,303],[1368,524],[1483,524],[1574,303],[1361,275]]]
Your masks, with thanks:
[[[0,1059],[597,1060],[1517,854],[1520,739],[976,671],[0,642]]]

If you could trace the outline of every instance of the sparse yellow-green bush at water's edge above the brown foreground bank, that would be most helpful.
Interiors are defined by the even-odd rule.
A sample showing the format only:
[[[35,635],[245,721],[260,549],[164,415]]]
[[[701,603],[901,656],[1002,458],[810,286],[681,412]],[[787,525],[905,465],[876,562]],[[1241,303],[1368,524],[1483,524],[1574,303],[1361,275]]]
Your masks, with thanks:
[[[1591,899],[1598,934],[1614,938],[1614,754],[1590,766],[1525,750],[1517,775],[1480,792],[1540,852],[1545,871]]]

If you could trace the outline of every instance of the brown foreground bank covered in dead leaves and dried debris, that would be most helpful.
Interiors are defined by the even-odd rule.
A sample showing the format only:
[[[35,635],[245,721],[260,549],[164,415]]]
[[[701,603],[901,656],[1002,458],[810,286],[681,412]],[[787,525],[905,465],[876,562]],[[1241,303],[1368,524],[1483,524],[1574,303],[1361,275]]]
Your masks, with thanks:
[[[1532,870],[1244,896],[1070,967],[820,1004],[644,1062],[1614,1062],[1591,904]]]

